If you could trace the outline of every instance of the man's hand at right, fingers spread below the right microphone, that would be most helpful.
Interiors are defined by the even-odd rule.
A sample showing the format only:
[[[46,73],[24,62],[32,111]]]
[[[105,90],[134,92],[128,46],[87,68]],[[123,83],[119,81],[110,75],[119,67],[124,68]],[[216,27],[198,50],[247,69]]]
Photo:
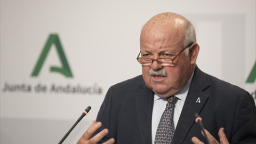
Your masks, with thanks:
[[[212,135],[207,130],[205,130],[205,133],[206,133],[206,135],[207,135],[211,144],[219,144],[219,142],[214,137],[212,137]],[[220,144],[229,144],[228,139],[226,137],[226,134],[224,133],[224,128],[223,127],[220,128],[218,134],[219,134],[219,137],[220,137]],[[199,139],[197,139],[196,137],[193,137],[192,141],[195,144],[203,144],[203,142],[200,141]]]

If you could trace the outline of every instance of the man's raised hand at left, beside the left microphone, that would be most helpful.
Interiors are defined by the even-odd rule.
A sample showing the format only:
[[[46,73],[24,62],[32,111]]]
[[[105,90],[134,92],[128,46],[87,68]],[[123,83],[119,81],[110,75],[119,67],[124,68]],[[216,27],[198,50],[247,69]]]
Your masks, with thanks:
[[[101,122],[93,121],[91,126],[84,132],[82,137],[78,140],[77,144],[96,144],[97,142],[99,142],[105,135],[108,134],[108,129],[104,129],[92,138],[92,134],[96,130],[98,130],[101,125]],[[103,144],[112,144],[114,142],[115,139],[112,138],[104,142]]]

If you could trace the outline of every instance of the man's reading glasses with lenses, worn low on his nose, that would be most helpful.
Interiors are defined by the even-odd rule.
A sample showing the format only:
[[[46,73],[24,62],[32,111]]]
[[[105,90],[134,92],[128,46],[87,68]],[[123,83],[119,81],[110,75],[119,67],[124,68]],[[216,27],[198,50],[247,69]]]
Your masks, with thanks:
[[[154,61],[157,61],[159,65],[161,66],[171,66],[173,61],[178,57],[178,55],[181,54],[181,52],[183,52],[184,50],[186,50],[187,48],[189,48],[193,43],[190,43],[188,46],[186,46],[184,49],[182,49],[174,58],[172,59],[168,59],[168,58],[157,58],[157,59],[153,59],[153,58],[139,58],[139,55],[141,53],[139,53],[137,60],[138,62],[142,65],[142,66],[150,66]]]

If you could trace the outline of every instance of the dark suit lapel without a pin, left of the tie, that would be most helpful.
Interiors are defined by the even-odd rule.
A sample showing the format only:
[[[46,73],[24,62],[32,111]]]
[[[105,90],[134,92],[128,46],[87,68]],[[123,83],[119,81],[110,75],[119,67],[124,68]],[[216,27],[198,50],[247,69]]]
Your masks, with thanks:
[[[143,89],[135,94],[139,131],[142,143],[150,144],[154,93],[146,87],[145,83],[141,84]]]

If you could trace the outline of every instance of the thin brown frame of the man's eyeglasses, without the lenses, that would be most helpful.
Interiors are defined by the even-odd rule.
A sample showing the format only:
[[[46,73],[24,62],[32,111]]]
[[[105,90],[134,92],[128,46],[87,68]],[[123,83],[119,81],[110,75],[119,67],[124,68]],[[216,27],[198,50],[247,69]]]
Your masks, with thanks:
[[[173,64],[173,61],[178,57],[178,55],[180,55],[184,50],[186,50],[187,48],[189,48],[190,49],[190,46],[192,45],[192,44],[194,44],[194,42],[191,42],[191,43],[189,43],[185,48],[183,48],[177,55],[175,55],[175,57],[174,58],[157,58],[157,59],[153,59],[153,58],[142,58],[142,57],[139,57],[140,56],[140,53],[141,53],[141,51],[140,51],[140,53],[139,53],[139,55],[137,56],[137,61],[140,63],[140,61],[139,61],[139,59],[150,59],[151,60],[151,63],[150,63],[150,65],[152,65],[152,63],[154,62],[154,61],[156,61],[159,65],[161,65],[161,66],[163,66],[162,65],[162,63],[159,63],[159,59],[169,59],[169,60],[171,60],[171,63],[170,63],[170,65],[164,65],[164,66],[171,66],[172,64]],[[141,64],[141,63],[140,63]],[[141,64],[142,65],[142,64]],[[147,64],[147,65],[142,65],[142,66],[150,66],[149,64]]]

